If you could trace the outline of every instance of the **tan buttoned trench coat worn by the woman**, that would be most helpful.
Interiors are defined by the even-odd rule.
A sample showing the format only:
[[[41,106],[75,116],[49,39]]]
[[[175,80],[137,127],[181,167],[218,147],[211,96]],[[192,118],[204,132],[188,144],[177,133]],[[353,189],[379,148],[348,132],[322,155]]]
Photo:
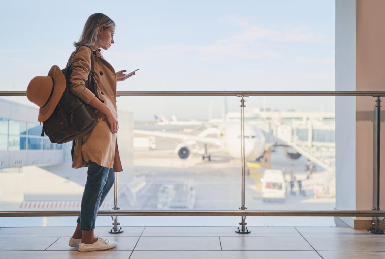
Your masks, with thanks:
[[[96,50],[96,57],[93,55],[93,70],[99,98],[117,117],[115,70],[103,58],[100,50],[91,48]],[[70,83],[71,92],[87,104],[95,98],[95,95],[86,87],[90,70],[91,49],[82,46],[72,61]],[[101,112],[97,112],[97,125],[89,133],[76,139],[72,167],[88,166],[89,160],[104,167],[114,168],[115,172],[123,171],[116,134],[111,133],[108,120]]]

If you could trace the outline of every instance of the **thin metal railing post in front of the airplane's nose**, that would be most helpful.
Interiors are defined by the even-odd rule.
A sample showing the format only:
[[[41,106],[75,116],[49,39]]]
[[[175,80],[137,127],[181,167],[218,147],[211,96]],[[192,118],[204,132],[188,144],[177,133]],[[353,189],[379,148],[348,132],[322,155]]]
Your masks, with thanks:
[[[241,190],[241,207],[239,209],[246,210],[245,207],[245,100],[242,95],[241,102],[241,160],[242,160],[242,190]],[[237,227],[235,232],[240,234],[247,234],[251,231],[247,229],[246,225],[246,216],[242,216],[242,221],[239,223],[241,225],[241,228]]]

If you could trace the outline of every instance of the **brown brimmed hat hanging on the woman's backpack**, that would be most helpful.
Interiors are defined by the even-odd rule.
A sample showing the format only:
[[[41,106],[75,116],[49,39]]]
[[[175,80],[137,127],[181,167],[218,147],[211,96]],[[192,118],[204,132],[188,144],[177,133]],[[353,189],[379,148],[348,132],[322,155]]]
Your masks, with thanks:
[[[65,88],[66,78],[58,66],[52,66],[48,76],[37,76],[29,82],[27,98],[40,107],[39,122],[51,116]]]

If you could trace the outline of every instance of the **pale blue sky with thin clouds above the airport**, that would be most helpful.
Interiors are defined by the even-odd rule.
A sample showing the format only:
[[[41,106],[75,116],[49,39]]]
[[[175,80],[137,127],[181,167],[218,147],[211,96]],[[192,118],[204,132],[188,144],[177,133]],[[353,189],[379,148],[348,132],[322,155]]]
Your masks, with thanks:
[[[7,1],[2,3],[0,91],[25,91],[64,68],[92,13],[115,21],[103,56],[116,71],[140,69],[118,91],[335,90],[334,0]],[[197,99],[199,98],[199,100]],[[135,118],[219,116],[223,97],[119,97]],[[211,103],[211,104],[209,104]],[[229,110],[239,100],[229,98]],[[266,97],[271,109],[333,110],[331,97]],[[262,97],[249,106],[262,107]],[[182,108],[179,108],[182,107]],[[187,107],[187,109],[186,109]]]

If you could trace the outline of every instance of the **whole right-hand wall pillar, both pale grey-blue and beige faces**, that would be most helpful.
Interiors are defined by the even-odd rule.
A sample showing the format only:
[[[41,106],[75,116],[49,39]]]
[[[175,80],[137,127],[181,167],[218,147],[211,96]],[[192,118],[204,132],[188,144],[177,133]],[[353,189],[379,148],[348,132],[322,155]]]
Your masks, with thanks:
[[[385,0],[336,0],[336,91],[385,91]],[[383,98],[382,106],[385,105]],[[336,209],[373,207],[373,97],[336,98]],[[385,118],[384,108],[382,118]],[[383,121],[383,119],[381,120]],[[381,123],[385,209],[385,133]],[[352,161],[355,161],[351,163]],[[371,218],[343,218],[369,228]]]

